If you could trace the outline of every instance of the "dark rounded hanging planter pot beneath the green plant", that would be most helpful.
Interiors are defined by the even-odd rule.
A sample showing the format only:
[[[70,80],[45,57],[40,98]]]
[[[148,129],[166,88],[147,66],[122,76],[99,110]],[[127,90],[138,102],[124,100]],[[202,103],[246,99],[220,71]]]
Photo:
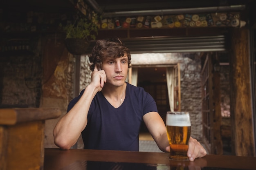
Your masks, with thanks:
[[[67,50],[73,55],[83,55],[87,53],[90,42],[79,38],[66,38]]]

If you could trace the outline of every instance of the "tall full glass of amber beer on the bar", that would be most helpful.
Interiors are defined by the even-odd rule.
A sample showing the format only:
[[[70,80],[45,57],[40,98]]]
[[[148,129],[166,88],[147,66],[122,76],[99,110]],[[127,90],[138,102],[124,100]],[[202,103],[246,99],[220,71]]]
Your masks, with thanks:
[[[187,151],[191,133],[189,112],[167,112],[166,130],[170,144],[170,159],[188,161]]]

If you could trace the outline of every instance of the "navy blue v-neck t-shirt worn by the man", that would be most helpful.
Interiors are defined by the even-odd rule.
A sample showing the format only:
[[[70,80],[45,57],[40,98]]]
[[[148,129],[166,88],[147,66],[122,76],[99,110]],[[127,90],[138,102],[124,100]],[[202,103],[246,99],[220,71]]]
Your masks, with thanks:
[[[119,108],[113,107],[101,92],[95,95],[88,112],[88,124],[82,132],[85,149],[139,151],[142,117],[157,112],[157,106],[143,88],[126,84],[126,96]],[[83,92],[70,102],[67,111]]]

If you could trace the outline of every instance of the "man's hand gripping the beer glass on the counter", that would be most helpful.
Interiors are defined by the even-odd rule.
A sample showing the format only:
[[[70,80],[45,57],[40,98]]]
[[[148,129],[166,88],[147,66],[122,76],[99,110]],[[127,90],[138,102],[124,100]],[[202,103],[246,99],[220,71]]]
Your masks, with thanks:
[[[166,151],[170,152],[170,146],[166,147]],[[192,137],[189,138],[189,149],[187,152],[187,156],[189,157],[190,161],[194,161],[195,158],[201,158],[206,155],[206,150],[204,147],[198,142],[196,139]]]

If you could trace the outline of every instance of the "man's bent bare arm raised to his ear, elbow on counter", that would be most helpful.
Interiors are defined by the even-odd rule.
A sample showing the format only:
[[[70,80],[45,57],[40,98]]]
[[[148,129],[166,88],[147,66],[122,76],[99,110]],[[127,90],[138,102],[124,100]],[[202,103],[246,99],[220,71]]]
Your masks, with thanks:
[[[97,92],[101,91],[105,82],[105,72],[98,71],[96,67],[92,73],[91,83],[85,88],[79,101],[56,124],[53,130],[56,146],[61,149],[70,149],[71,146],[76,144],[81,132],[87,125],[87,115],[92,99]]]

